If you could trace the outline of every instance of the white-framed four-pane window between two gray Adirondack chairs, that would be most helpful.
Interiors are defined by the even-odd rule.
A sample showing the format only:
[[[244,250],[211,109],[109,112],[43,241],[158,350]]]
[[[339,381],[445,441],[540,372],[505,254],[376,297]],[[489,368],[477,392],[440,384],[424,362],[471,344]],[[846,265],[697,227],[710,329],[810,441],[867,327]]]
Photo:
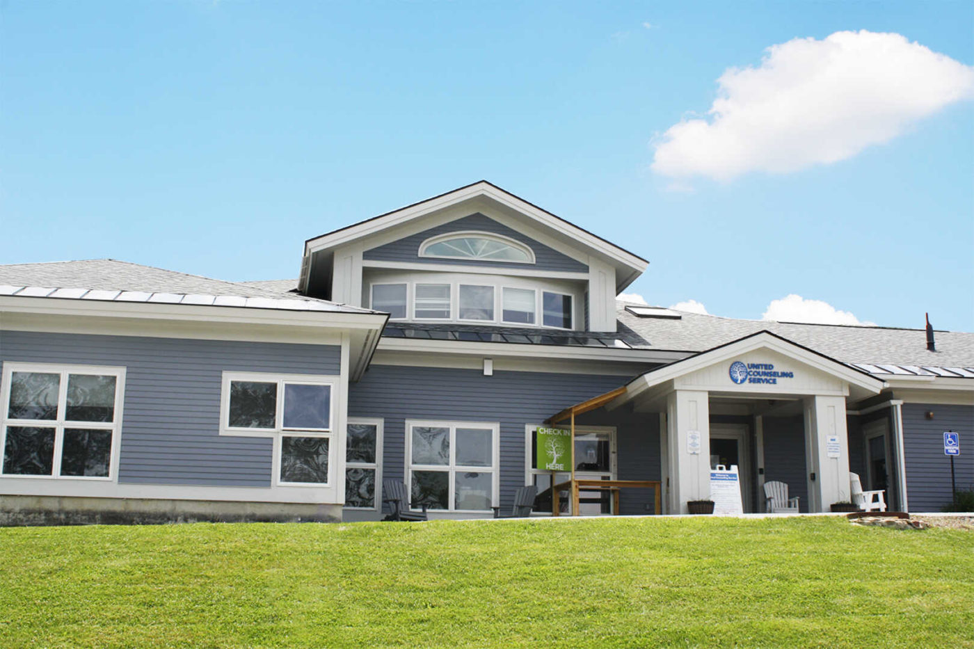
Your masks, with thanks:
[[[407,421],[406,431],[413,507],[490,511],[498,497],[498,424]]]

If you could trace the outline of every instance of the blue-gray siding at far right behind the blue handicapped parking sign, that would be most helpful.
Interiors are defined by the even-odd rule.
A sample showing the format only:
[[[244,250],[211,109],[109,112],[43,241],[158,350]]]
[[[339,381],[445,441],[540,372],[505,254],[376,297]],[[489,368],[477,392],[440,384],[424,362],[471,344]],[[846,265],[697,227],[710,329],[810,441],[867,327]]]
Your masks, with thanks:
[[[944,454],[944,433],[960,433],[954,458],[957,489],[974,489],[974,406],[904,403],[903,447],[907,495],[912,512],[939,512],[953,500],[951,460]],[[926,412],[933,412],[933,419]]]

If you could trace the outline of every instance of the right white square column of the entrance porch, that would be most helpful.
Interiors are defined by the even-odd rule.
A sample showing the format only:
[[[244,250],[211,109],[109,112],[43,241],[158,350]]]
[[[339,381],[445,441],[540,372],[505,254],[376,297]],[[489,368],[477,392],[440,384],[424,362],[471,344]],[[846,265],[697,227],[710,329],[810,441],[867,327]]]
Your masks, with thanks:
[[[839,457],[829,457],[830,437],[837,438]],[[805,459],[809,512],[829,512],[832,503],[851,499],[844,397],[805,400]]]

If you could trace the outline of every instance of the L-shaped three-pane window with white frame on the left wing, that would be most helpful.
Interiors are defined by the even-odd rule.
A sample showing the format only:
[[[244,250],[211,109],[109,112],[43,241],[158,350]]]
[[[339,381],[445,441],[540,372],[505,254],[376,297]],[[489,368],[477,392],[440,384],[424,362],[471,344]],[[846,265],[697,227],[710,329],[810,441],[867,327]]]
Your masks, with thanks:
[[[223,374],[224,435],[275,439],[279,484],[328,486],[334,382],[300,374]]]

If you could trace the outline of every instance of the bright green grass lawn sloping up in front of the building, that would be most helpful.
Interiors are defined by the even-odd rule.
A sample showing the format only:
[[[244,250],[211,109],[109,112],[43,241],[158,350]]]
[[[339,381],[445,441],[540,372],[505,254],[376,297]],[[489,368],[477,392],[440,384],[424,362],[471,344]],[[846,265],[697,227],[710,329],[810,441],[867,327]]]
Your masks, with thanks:
[[[0,529],[0,647],[974,647],[974,533],[839,517]]]

